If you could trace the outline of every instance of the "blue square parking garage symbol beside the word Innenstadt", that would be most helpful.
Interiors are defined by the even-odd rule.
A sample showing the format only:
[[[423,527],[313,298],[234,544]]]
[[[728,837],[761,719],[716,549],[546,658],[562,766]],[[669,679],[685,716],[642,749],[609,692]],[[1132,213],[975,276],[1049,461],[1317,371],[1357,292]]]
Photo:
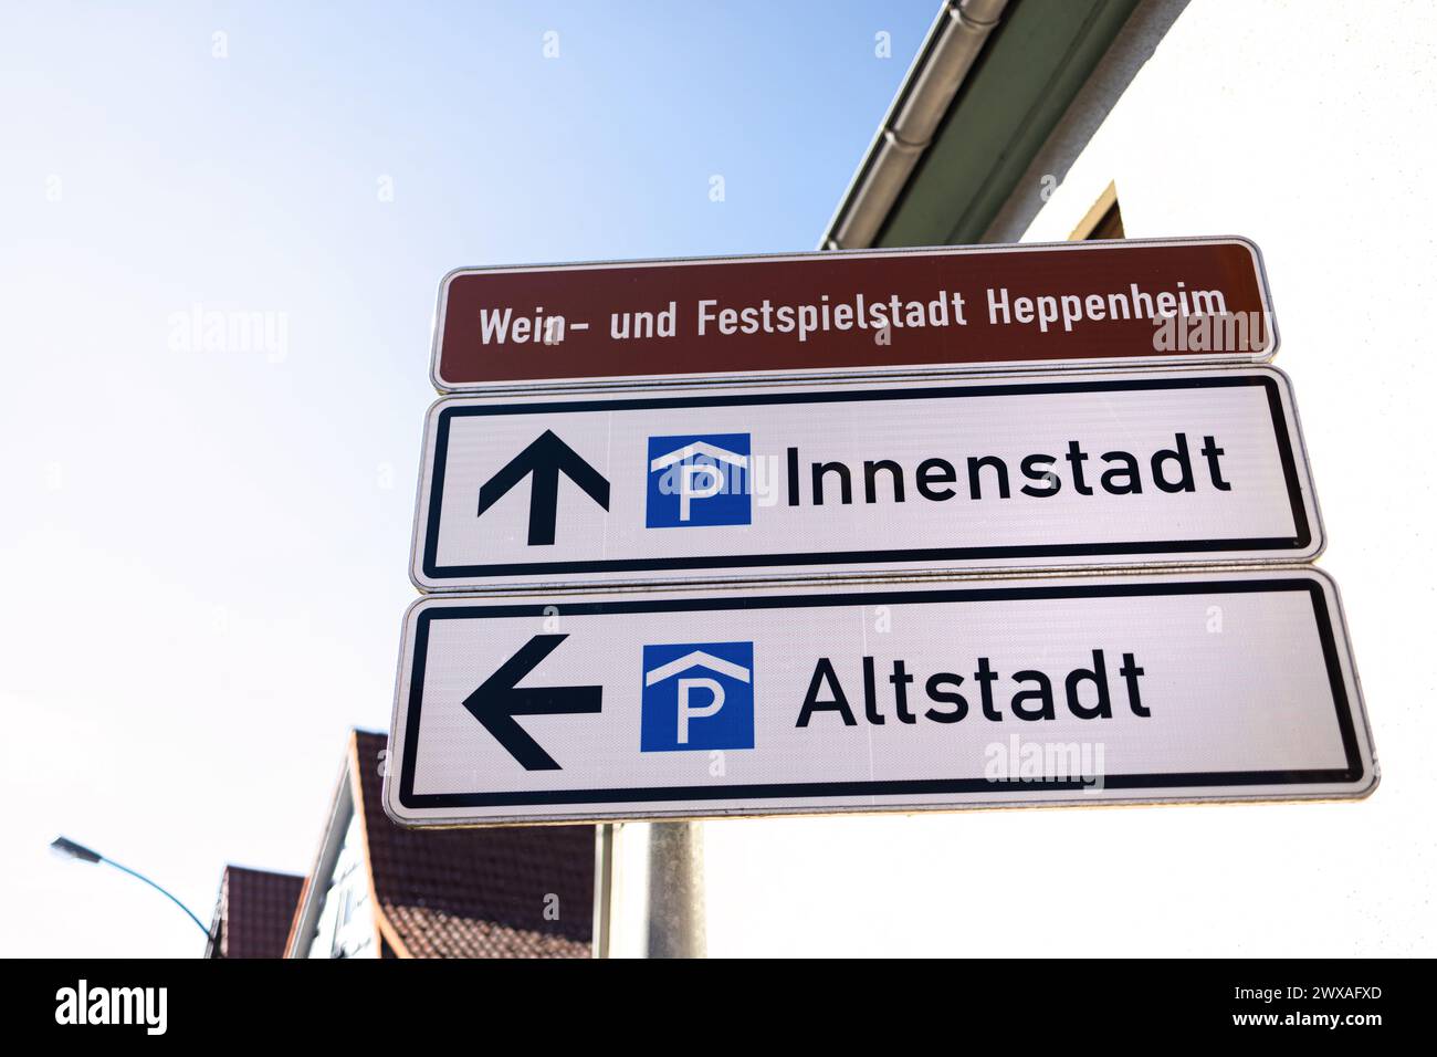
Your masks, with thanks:
[[[648,439],[648,528],[750,525],[747,433]]]

